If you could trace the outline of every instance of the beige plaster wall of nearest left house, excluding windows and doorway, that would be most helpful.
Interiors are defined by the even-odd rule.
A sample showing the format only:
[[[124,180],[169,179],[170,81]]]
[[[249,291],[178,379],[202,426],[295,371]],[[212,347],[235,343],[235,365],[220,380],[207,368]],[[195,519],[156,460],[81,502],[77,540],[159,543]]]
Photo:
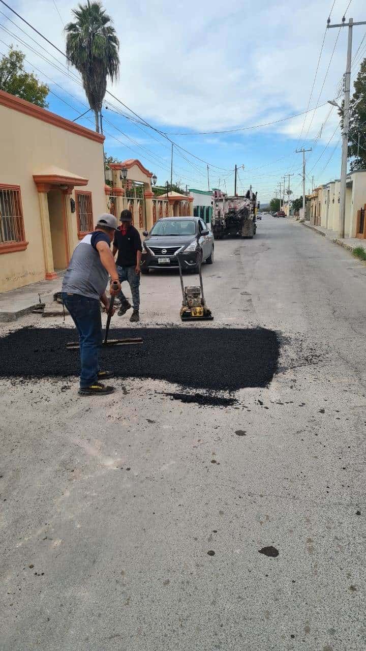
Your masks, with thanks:
[[[28,102],[21,103],[21,110],[3,105],[4,98],[7,100],[7,93],[1,92],[0,185],[20,186],[25,240],[29,244],[25,251],[10,253],[1,253],[0,247],[0,292],[41,281],[46,275],[40,201],[33,174],[44,174],[48,168],[56,166],[76,176],[87,178],[87,186],[80,189],[92,192],[94,223],[98,215],[106,212],[102,142],[70,132],[64,128],[64,125],[66,124],[70,129],[75,126],[63,118],[55,117],[60,126],[50,124],[46,121],[49,116],[53,116],[49,111],[38,109],[38,117],[24,113],[23,111],[27,110],[29,105]],[[13,98],[13,101],[15,100],[16,98]],[[17,101],[21,102],[21,100]],[[29,105],[30,113],[36,108]],[[45,116],[45,121],[39,118],[40,112]],[[89,131],[83,128],[79,130],[80,133]],[[55,210],[55,214],[50,215],[49,225],[56,268],[63,268],[66,262],[65,238],[60,237],[62,224],[65,221],[67,223],[67,217],[74,220],[76,224],[76,213],[67,215],[70,212],[70,196],[75,198],[74,191],[72,195],[66,195],[59,189],[49,198],[49,208],[51,212]],[[70,221],[66,232],[68,249],[74,249],[78,241],[75,224]],[[72,254],[72,251],[69,253]]]

